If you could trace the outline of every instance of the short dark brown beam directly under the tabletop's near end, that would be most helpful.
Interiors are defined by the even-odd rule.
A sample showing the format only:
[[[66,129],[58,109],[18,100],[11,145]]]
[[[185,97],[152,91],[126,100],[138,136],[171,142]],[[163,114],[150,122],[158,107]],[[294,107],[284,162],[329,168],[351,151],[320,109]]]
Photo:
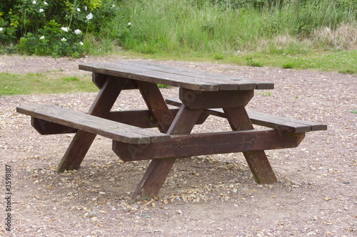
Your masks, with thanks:
[[[191,109],[246,106],[253,98],[253,90],[194,91],[180,88],[179,98]]]

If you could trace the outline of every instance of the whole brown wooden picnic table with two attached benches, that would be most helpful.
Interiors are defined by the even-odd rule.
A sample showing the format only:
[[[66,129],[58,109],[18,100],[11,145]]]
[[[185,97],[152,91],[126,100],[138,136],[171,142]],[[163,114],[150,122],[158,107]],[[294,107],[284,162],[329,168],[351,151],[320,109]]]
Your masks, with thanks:
[[[100,88],[88,113],[54,105],[23,105],[17,111],[31,115],[31,125],[42,135],[76,132],[57,172],[79,169],[96,135],[111,138],[114,152],[126,162],[151,159],[134,200],[156,196],[177,158],[203,154],[243,152],[256,181],[273,183],[264,150],[297,147],[305,132],[327,129],[247,111],[254,90],[273,89],[273,83],[147,62],[89,63],[79,69],[91,71]],[[157,84],[179,88],[179,97],[165,100]],[[148,110],[111,111],[127,89],[139,89]],[[208,115],[225,117],[232,131],[191,134]],[[266,128],[254,130],[253,123]]]

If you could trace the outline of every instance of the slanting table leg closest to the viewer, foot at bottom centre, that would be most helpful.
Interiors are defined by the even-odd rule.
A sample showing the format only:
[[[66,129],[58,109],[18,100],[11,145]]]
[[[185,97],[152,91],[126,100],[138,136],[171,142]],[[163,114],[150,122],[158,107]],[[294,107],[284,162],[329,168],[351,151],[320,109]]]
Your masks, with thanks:
[[[190,133],[202,111],[191,110],[182,105],[167,133],[170,135]],[[157,196],[175,161],[176,159],[152,160],[132,199],[139,201]]]

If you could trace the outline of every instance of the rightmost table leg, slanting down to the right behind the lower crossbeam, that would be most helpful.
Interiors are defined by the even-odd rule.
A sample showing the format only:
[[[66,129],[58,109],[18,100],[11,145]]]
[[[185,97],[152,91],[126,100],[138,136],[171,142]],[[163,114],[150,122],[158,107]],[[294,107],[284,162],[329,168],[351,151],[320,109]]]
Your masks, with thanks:
[[[253,125],[244,107],[223,109],[233,130],[252,130]],[[264,151],[243,152],[258,184],[276,182],[276,176]]]

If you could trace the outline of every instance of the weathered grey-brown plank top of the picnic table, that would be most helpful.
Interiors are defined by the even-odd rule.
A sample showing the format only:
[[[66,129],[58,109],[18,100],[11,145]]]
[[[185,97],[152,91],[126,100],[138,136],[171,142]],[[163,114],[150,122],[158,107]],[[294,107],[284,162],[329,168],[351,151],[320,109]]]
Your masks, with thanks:
[[[140,61],[88,63],[79,65],[79,69],[190,90],[262,90],[274,88],[273,83]]]

